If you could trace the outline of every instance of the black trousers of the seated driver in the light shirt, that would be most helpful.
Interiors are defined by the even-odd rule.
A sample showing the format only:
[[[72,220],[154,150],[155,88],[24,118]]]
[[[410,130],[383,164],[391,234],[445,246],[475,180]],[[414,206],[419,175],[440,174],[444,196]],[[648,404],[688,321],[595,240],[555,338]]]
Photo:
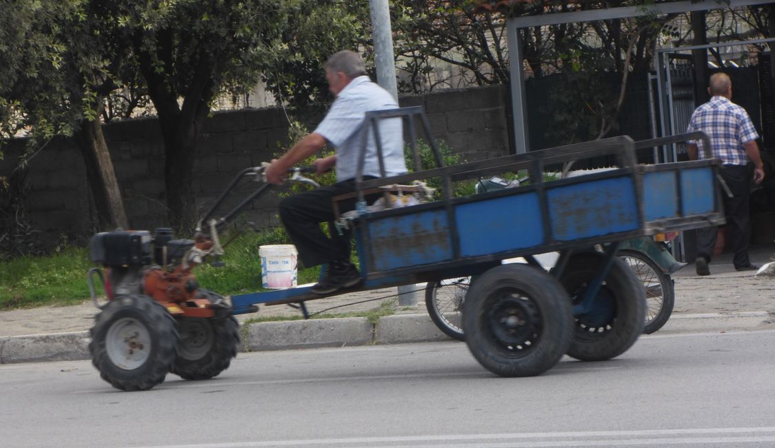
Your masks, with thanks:
[[[364,176],[364,179],[374,177]],[[342,181],[328,187],[315,188],[298,195],[284,198],[280,202],[280,220],[298,250],[298,257],[305,267],[326,264],[333,260],[350,259],[350,231],[339,235],[333,221],[332,198],[355,191],[355,180]],[[370,195],[367,202],[373,202],[379,195]],[[339,213],[355,209],[356,198],[339,201]],[[329,223],[329,234],[320,228],[320,223]]]

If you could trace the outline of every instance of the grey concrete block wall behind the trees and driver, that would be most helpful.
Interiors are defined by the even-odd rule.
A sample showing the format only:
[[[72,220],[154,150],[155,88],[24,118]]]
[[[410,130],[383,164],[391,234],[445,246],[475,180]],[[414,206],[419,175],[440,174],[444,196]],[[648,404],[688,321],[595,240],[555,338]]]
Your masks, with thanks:
[[[405,96],[400,104],[422,105],[433,136],[446,141],[463,160],[508,154],[508,89],[503,86]],[[303,122],[312,130],[321,118],[305,113]],[[157,119],[112,122],[103,130],[130,227],[166,226],[164,143]],[[3,147],[0,177],[15,166],[13,161],[23,150],[23,143],[13,140]],[[239,171],[271,160],[290,143],[288,119],[282,109],[215,112],[198,136],[193,185],[198,213],[212,206]],[[29,162],[28,182],[26,212],[44,241],[53,242],[60,235],[84,241],[95,230],[104,230],[93,227],[95,212],[84,162],[72,141],[53,140],[40,151]],[[255,186],[246,184],[219,210],[228,211]],[[245,219],[259,227],[278,225],[278,200],[276,192],[268,192],[246,209]]]

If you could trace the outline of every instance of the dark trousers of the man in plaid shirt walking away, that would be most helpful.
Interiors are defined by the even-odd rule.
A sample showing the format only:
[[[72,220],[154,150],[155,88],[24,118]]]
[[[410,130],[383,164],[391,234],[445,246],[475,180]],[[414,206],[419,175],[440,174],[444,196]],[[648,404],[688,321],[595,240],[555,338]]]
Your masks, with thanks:
[[[744,267],[751,264],[748,257],[749,240],[749,198],[751,194],[751,175],[745,165],[722,165],[722,178],[732,191],[733,198],[729,198],[722,189],[722,201],[726,215],[726,240],[732,242],[735,248],[735,257],[732,262],[735,267]],[[716,246],[717,227],[704,227],[697,230],[697,256],[710,261],[713,249]]]

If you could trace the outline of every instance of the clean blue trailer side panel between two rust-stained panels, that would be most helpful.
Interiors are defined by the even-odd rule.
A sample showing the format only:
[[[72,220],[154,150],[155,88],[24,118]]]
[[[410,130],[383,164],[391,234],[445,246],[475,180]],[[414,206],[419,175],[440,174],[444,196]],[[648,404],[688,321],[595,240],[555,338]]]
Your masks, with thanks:
[[[455,219],[463,257],[539,246],[544,240],[535,191],[456,205]]]

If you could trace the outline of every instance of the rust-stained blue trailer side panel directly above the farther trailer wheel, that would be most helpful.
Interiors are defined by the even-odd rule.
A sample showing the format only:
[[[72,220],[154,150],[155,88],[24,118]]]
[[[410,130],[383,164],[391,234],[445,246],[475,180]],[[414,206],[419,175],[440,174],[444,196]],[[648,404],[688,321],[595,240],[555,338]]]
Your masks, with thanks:
[[[640,229],[632,177],[584,181],[547,191],[555,240],[571,241]]]

